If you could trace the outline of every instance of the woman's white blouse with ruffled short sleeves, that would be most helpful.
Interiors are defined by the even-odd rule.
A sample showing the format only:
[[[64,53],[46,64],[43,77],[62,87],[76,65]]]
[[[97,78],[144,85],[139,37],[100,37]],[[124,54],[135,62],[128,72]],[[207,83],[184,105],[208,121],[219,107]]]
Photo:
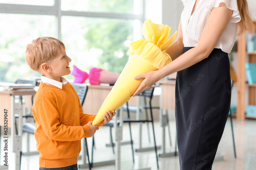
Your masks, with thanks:
[[[199,0],[192,15],[191,12],[196,0],[182,0],[182,2],[184,9],[181,14],[181,23],[184,47],[198,45],[201,33],[213,7],[218,7],[221,2],[224,2],[229,9],[233,10],[228,25],[215,46],[215,48],[220,48],[222,51],[230,53],[236,41],[238,22],[241,20],[237,0]]]

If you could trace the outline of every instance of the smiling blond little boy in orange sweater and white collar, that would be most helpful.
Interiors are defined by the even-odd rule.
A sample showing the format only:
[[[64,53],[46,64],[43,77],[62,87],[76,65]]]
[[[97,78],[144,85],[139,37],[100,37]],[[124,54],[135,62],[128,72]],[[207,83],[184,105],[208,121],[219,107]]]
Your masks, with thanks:
[[[35,138],[41,170],[78,169],[81,139],[92,137],[99,126],[108,123],[115,111],[92,125],[95,115],[83,114],[73,86],[62,76],[70,74],[64,44],[53,37],[39,37],[27,45],[26,61],[41,74],[41,83],[32,107],[36,121]]]

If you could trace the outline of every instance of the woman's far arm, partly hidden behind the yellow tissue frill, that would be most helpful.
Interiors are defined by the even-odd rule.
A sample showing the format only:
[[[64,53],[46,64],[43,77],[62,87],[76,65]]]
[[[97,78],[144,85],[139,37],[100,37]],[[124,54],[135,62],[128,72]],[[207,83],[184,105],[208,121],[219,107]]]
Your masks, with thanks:
[[[182,54],[183,47],[184,47],[183,34],[182,34],[182,25],[181,25],[181,20],[180,20],[177,39],[173,43],[173,45],[170,46],[168,49],[166,49],[164,52],[169,54],[169,56],[172,58],[172,60],[175,60]]]

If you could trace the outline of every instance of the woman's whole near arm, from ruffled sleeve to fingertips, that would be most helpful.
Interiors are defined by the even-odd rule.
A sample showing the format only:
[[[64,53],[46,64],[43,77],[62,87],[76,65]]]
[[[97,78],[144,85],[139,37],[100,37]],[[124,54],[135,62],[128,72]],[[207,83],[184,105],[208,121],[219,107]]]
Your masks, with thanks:
[[[213,8],[210,16],[206,21],[198,45],[167,64],[162,69],[157,71],[150,71],[148,73],[134,77],[136,80],[142,78],[144,78],[144,80],[135,91],[133,96],[141,93],[147,88],[150,88],[154,83],[163,79],[165,76],[188,68],[195,63],[198,63],[199,61],[207,58],[218,43],[220,36],[225,30],[232,13],[233,10],[228,9],[226,4],[223,2],[219,4],[219,7]]]

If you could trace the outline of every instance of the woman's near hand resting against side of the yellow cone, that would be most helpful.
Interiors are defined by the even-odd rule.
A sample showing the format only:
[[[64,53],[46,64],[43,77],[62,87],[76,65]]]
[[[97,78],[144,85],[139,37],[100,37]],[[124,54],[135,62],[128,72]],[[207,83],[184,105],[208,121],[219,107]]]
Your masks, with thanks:
[[[138,75],[138,76],[134,77],[135,80],[139,80],[139,79],[142,79],[142,78],[145,78],[145,79],[141,82],[141,85],[137,88],[137,90],[134,92],[134,94],[132,96],[134,97],[137,94],[140,94],[142,91],[150,88],[156,82],[161,80],[162,78],[161,78],[161,75],[159,74],[158,71],[159,70],[150,71],[150,72],[147,72],[145,74],[141,74],[141,75]]]

